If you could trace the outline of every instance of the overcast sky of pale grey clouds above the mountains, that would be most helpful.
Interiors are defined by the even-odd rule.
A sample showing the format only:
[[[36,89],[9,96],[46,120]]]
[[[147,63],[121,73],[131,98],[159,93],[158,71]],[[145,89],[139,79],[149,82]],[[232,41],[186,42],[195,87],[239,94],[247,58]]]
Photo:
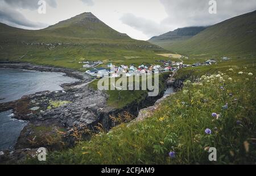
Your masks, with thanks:
[[[132,38],[148,40],[180,27],[212,25],[256,10],[256,0],[216,0],[217,14],[209,14],[209,0],[0,0],[0,22],[40,29],[92,12],[102,22]]]

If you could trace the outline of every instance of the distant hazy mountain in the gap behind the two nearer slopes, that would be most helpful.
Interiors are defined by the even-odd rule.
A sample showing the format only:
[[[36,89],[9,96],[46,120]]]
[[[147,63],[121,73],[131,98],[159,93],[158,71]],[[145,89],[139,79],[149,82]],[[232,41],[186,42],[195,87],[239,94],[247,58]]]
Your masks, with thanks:
[[[174,31],[164,33],[163,35],[152,37],[148,41],[165,49],[170,49],[170,47],[176,44],[176,42],[188,40],[206,28],[207,27],[178,28]]]

